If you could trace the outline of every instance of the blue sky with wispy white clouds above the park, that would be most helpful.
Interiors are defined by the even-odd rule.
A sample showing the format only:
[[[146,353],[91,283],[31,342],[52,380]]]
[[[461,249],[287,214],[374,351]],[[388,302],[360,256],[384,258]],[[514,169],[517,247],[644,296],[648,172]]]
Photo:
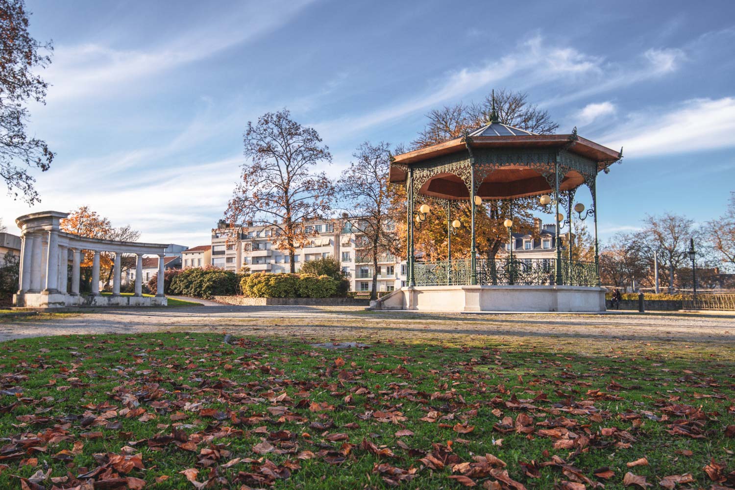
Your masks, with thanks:
[[[208,244],[249,120],[287,107],[336,178],[364,141],[410,143],[426,113],[520,90],[559,132],[624,147],[598,178],[600,238],[673,212],[722,215],[735,191],[735,2],[40,1],[52,40],[29,131],[56,153],[42,202],[87,205],[141,240]],[[589,198],[578,192],[578,201]]]

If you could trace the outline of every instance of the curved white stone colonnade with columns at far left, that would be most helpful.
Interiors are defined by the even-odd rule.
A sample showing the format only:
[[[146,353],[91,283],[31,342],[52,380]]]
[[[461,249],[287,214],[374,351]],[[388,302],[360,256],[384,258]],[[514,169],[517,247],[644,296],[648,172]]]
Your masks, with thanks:
[[[163,281],[158,282],[154,298],[143,296],[143,256],[158,256],[158,274],[163,275],[164,251],[162,243],[121,242],[118,240],[80,237],[61,231],[61,220],[68,213],[57,211],[35,212],[15,220],[21,228],[21,273],[18,293],[13,297],[15,306],[26,308],[58,308],[63,306],[157,306],[165,305]],[[79,293],[80,267],[85,251],[92,251],[92,291]],[[100,254],[114,253],[112,295],[100,295]],[[136,256],[135,295],[120,294],[121,258],[124,254]],[[68,277],[71,255],[71,281]],[[69,288],[71,284],[71,288]],[[71,289],[68,290],[68,289]]]

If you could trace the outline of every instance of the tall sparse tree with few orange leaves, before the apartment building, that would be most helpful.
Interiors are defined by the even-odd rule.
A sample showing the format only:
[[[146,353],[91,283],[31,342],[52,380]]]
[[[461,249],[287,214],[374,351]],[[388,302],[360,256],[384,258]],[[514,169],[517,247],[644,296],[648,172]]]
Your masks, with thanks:
[[[313,172],[331,154],[318,132],[291,119],[290,112],[268,112],[256,124],[248,122],[243,136],[245,157],[240,184],[225,212],[230,224],[270,226],[273,244],[287,251],[295,272],[295,248],[309,234],[304,220],[329,214],[334,186],[326,174]]]

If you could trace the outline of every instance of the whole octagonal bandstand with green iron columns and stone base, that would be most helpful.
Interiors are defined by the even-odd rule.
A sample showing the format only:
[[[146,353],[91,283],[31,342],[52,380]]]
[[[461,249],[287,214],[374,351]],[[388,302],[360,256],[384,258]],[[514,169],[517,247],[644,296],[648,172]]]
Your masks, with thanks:
[[[424,311],[604,311],[600,287],[597,195],[598,173],[620,161],[614,151],[572,134],[534,134],[491,121],[464,137],[395,156],[390,181],[406,186],[408,220],[407,287],[384,296],[376,309]],[[573,206],[581,186],[589,189],[592,206]],[[488,259],[476,253],[476,208],[486,200],[539,196],[556,217],[555,257],[550,259]],[[428,219],[432,206],[451,209],[469,201],[469,257],[435,262],[417,261],[415,227]],[[562,210],[564,213],[562,213]],[[594,220],[595,260],[573,260],[562,253],[560,228],[572,226],[573,212]],[[506,226],[512,227],[512,217]],[[448,223],[448,234],[456,221]],[[571,236],[571,234],[570,234]],[[451,237],[448,240],[451,247]],[[450,248],[451,250],[451,248]]]

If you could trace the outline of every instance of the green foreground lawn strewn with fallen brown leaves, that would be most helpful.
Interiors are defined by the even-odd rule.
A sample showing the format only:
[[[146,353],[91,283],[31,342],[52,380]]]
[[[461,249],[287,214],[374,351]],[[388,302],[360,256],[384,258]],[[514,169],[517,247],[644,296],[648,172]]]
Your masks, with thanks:
[[[732,359],[417,342],[4,342],[0,488],[735,485]]]

